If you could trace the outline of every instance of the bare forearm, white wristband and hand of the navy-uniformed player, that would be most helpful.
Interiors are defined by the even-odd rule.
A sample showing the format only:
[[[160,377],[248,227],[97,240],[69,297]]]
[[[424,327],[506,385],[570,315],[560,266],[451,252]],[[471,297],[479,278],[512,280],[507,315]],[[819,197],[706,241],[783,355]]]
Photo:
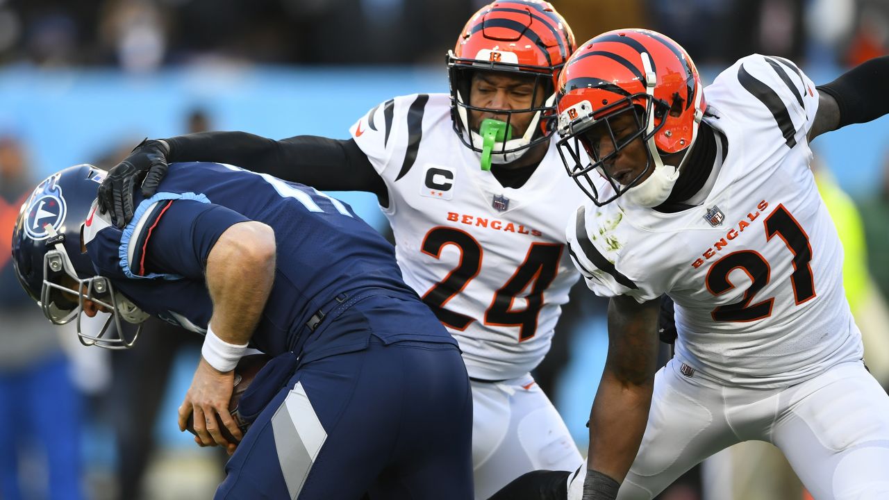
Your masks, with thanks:
[[[243,436],[228,413],[234,368],[259,323],[275,280],[275,233],[261,222],[239,222],[225,230],[207,256],[206,284],[213,313],[191,387],[179,408],[184,430],[194,412],[194,429],[203,446],[235,443],[222,437],[220,424],[236,439]]]

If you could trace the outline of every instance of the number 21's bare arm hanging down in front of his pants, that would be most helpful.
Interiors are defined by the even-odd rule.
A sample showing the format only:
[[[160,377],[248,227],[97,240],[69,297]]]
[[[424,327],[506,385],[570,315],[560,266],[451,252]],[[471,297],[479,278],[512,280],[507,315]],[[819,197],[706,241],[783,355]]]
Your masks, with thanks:
[[[589,414],[584,500],[613,500],[645,433],[657,369],[661,301],[617,296],[608,305],[608,357]]]

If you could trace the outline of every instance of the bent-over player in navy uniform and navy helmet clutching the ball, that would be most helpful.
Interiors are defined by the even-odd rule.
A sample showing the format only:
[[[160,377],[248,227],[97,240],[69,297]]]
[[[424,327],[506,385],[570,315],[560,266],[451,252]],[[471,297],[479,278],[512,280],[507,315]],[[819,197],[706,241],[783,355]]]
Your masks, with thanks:
[[[472,497],[457,343],[348,205],[231,165],[172,164],[121,230],[96,212],[104,175],[77,165],[36,187],[12,235],[17,275],[85,344],[131,347],[122,320],[149,314],[205,335],[179,423],[193,415],[199,444],[233,453],[216,498]],[[106,328],[84,332],[100,310]],[[248,346],[274,359],[239,401],[255,419],[242,434],[228,401]]]

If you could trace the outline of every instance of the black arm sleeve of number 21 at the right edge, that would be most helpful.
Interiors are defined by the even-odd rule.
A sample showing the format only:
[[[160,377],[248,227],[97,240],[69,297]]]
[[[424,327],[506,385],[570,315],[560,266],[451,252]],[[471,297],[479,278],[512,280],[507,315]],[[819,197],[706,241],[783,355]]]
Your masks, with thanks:
[[[863,124],[889,114],[889,55],[877,57],[846,71],[836,80],[818,85],[839,107],[839,127]]]

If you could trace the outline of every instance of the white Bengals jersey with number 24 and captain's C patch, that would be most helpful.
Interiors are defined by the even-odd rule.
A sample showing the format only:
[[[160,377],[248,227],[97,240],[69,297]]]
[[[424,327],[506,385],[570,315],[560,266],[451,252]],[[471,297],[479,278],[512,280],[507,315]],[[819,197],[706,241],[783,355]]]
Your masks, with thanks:
[[[504,380],[536,367],[578,278],[565,224],[584,198],[555,141],[512,189],[453,132],[447,94],[396,97],[350,131],[386,182],[382,210],[404,281],[460,343],[469,375]]]

